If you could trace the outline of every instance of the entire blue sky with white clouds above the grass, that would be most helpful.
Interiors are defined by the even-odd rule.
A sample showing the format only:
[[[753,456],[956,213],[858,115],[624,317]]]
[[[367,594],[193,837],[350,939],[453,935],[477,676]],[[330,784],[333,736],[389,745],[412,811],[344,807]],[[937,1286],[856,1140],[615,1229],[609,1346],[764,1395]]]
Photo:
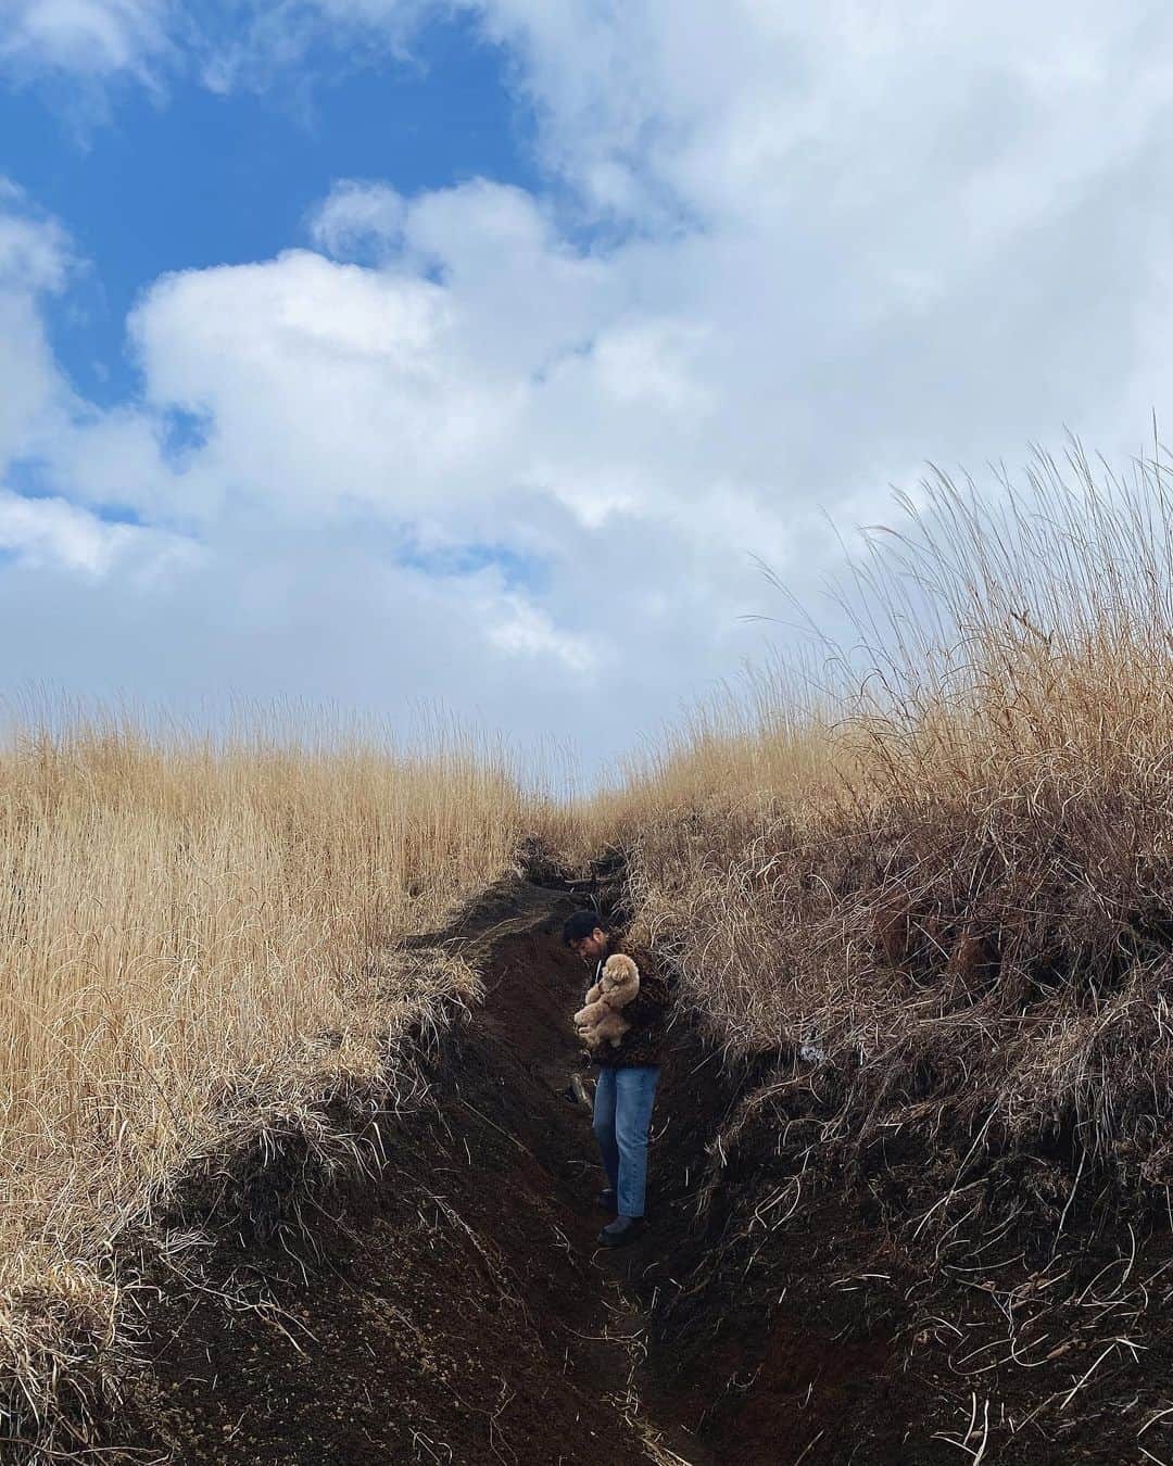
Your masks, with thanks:
[[[1172,176],[1135,0],[4,0],[0,695],[591,777],[927,465],[1144,447]]]

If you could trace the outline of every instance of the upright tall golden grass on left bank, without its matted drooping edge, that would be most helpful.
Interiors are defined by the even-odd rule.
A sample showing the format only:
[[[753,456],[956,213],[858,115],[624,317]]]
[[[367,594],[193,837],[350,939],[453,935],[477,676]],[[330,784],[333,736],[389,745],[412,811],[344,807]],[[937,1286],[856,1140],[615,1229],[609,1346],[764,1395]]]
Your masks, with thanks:
[[[227,1083],[296,1082],[315,1035],[343,1051],[380,950],[500,874],[532,822],[509,758],[452,733],[408,755],[12,727],[0,1287],[91,1256],[208,1139]]]

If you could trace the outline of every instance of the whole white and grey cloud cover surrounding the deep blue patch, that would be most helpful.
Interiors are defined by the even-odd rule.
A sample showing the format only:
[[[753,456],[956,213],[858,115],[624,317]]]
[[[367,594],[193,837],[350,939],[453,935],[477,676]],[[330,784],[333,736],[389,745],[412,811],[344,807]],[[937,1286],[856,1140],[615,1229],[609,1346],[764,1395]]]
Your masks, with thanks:
[[[54,491],[202,545],[167,560],[148,531],[4,498],[23,538],[0,611],[19,586],[43,617],[10,667],[440,696],[614,749],[757,647],[739,617],[782,608],[752,554],[799,591],[837,561],[824,509],[880,517],[925,459],[979,471],[1064,427],[1114,454],[1160,408],[1164,12],[460,9],[518,62],[548,194],[340,182],[308,220],[324,254],[144,292],[145,391],[117,412],[75,402],[45,345],[67,243],[0,207],[0,459],[35,452]],[[321,23],[402,47],[419,13],[268,7],[216,85]],[[182,462],[176,410],[202,425]],[[166,567],[150,585],[130,547]],[[85,617],[87,663],[54,605]]]

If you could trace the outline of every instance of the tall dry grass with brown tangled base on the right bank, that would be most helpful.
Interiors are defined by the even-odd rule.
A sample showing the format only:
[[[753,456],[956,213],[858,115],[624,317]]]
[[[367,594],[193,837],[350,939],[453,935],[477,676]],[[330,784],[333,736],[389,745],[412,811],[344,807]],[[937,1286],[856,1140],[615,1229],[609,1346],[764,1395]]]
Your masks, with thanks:
[[[729,1050],[828,1056],[858,1142],[1051,1135],[1160,1196],[1167,469],[1120,481],[1076,450],[981,494],[937,476],[900,510],[802,696],[710,711],[611,793],[641,919]]]

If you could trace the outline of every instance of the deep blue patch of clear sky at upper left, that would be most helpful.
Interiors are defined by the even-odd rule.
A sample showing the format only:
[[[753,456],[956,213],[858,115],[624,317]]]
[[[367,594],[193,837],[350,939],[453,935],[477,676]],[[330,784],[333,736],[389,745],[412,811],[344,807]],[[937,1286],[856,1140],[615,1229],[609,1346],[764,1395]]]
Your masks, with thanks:
[[[170,270],[264,259],[305,240],[336,179],[403,194],[485,176],[537,185],[532,123],[507,54],[469,21],[433,21],[411,56],[345,57],[318,40],[261,91],[218,92],[182,69],[98,106],[65,76],[0,89],[0,174],[67,220],[87,262],[51,317],[60,361],[91,400],[136,387],[126,317]]]

